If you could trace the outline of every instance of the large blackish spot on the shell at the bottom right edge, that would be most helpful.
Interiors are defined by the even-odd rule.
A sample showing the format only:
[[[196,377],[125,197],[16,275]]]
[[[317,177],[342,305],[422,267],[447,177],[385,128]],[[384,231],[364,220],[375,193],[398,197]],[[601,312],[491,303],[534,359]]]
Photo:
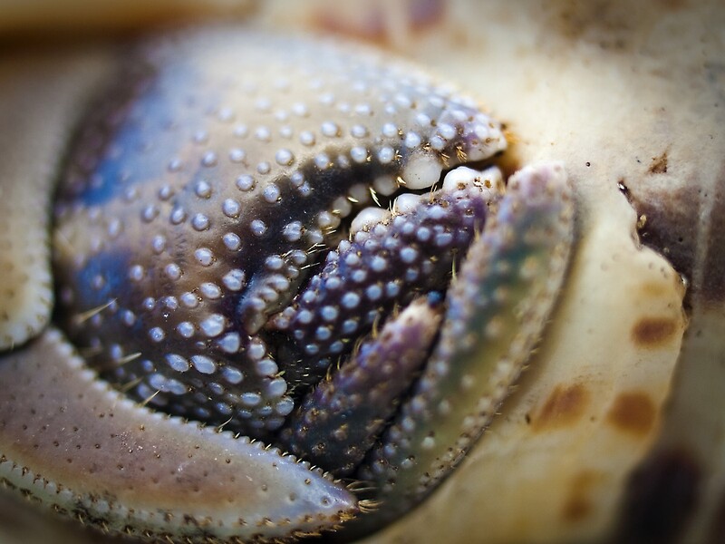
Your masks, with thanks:
[[[614,542],[679,541],[700,501],[700,462],[685,448],[657,452],[633,472]]]

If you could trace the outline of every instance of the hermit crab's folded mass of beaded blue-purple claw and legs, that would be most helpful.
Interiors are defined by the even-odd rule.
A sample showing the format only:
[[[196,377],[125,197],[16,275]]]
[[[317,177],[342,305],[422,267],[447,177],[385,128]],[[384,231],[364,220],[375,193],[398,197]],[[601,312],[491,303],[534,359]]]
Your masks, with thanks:
[[[217,27],[124,66],[57,188],[55,325],[0,359],[0,483],[150,541],[400,516],[541,333],[562,168],[503,196],[501,125],[360,46]]]

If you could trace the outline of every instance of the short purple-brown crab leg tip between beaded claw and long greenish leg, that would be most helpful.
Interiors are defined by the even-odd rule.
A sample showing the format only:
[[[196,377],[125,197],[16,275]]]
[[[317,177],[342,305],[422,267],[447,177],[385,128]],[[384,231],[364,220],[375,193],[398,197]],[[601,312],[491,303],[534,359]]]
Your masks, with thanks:
[[[280,442],[337,475],[354,471],[428,357],[440,325],[438,302],[420,297],[391,319],[307,394]]]

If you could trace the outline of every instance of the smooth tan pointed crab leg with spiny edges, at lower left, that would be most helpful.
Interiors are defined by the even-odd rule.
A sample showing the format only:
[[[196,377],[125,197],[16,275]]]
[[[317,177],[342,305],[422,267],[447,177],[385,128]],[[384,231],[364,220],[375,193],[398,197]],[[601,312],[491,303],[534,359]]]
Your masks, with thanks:
[[[306,462],[125,399],[57,331],[0,359],[0,384],[0,483],[104,531],[257,541],[356,512]]]

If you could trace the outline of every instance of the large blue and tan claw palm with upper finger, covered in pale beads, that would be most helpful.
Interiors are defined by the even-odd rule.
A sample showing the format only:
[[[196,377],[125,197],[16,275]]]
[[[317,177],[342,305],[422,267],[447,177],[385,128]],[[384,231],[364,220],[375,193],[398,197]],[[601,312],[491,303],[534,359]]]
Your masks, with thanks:
[[[297,376],[263,327],[323,250],[372,194],[505,146],[473,102],[359,49],[238,29],[147,45],[59,188],[63,328],[140,402],[266,438]]]

